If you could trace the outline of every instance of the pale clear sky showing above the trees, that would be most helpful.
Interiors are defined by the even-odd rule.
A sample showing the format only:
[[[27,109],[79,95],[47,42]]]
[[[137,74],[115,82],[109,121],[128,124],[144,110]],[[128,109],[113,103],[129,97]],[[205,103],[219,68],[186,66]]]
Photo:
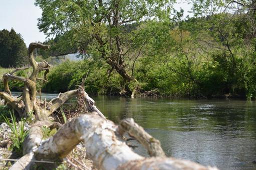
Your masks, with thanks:
[[[31,42],[43,42],[46,35],[37,26],[42,10],[35,6],[35,0],[0,0],[0,30],[11,30],[21,33],[27,46]],[[190,5],[185,0],[177,0],[175,9],[184,9],[184,16],[188,15]]]

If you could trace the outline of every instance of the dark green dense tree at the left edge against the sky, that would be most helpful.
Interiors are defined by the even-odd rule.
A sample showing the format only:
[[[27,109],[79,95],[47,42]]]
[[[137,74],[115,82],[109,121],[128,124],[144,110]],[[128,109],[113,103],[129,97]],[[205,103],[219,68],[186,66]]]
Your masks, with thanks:
[[[3,29],[0,31],[0,66],[17,67],[28,63],[27,47],[21,34]]]

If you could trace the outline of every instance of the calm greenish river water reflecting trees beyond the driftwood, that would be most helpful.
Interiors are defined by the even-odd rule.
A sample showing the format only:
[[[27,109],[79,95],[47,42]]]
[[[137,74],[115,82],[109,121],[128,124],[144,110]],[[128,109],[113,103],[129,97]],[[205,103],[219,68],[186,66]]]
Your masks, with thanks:
[[[256,101],[92,98],[107,118],[116,123],[133,117],[161,141],[168,156],[220,169],[256,169],[252,163],[256,160]],[[132,143],[138,145],[136,152],[148,156],[139,143]]]

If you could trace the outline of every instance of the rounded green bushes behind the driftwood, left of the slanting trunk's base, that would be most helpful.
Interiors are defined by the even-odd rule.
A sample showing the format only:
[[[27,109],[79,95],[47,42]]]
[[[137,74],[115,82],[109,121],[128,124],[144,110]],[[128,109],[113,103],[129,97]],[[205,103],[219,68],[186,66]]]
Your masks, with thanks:
[[[117,73],[112,73],[107,77],[108,66],[101,63],[94,63],[90,60],[85,61],[66,61],[54,67],[49,75],[43,90],[47,92],[65,92],[75,89],[82,79],[85,81],[85,90],[90,94],[118,94],[122,89],[122,78]]]

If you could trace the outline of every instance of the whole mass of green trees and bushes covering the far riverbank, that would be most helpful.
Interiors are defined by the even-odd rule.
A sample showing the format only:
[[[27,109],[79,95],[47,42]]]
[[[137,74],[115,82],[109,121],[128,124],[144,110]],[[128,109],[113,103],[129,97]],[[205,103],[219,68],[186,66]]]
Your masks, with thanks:
[[[53,45],[50,55],[75,50],[86,59],[53,68],[44,89],[74,89],[90,70],[85,89],[91,94],[139,86],[165,96],[254,99],[256,2],[189,1],[196,17],[184,20],[182,9],[170,15],[172,0],[36,0],[43,10],[39,28],[57,34],[46,42]],[[127,82],[120,70],[138,81]]]

